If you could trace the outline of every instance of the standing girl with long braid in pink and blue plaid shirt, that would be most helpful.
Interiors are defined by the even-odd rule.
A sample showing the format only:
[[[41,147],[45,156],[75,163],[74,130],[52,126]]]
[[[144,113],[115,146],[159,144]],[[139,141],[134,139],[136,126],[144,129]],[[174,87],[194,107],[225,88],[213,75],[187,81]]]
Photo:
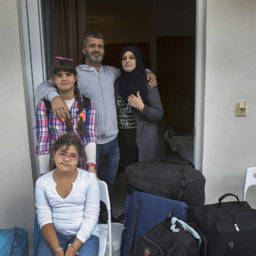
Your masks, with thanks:
[[[50,148],[64,134],[77,135],[83,145],[85,155],[79,157],[78,165],[95,173],[96,168],[96,121],[94,104],[86,110],[85,103],[77,87],[77,73],[72,59],[55,57],[52,68],[52,80],[59,95],[66,101],[70,119],[55,119],[52,109],[47,110],[47,101],[40,100],[36,109],[36,137],[40,173],[46,174],[53,169],[53,156]],[[89,100],[89,99],[88,99]],[[97,177],[97,176],[96,176]]]

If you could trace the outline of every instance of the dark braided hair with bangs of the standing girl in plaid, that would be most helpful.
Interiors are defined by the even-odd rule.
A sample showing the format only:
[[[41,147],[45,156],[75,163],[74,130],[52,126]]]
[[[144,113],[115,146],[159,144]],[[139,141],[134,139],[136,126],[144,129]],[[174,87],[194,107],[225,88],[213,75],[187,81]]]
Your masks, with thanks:
[[[70,73],[74,74],[74,76],[77,75],[77,72],[76,72],[76,69],[75,69],[73,63],[66,59],[60,59],[54,63],[54,65],[52,67],[52,78],[54,78],[54,76],[57,75],[61,71],[70,72]],[[57,87],[55,87],[55,88],[58,90]],[[77,79],[75,81],[74,92],[75,92],[76,100],[78,102],[78,110],[79,110],[79,114],[80,114],[80,113],[82,113],[83,109],[82,109],[82,101],[81,101],[80,91],[77,86]],[[79,133],[86,134],[86,130],[84,130],[84,126],[83,126],[82,117],[79,118],[77,129],[78,129]],[[73,123],[68,118],[67,118],[66,131],[73,132]]]

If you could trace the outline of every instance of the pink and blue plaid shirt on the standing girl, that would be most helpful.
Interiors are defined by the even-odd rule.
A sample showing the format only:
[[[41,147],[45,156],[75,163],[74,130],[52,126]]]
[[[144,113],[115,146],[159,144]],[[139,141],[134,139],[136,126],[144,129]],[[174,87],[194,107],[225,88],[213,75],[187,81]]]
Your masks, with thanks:
[[[82,100],[82,97],[81,97]],[[83,104],[82,104],[83,106]],[[78,132],[78,121],[79,121],[79,110],[78,102],[74,100],[71,109],[69,111],[70,120],[73,123],[73,133],[81,139],[81,143],[84,148],[91,142],[97,142],[96,134],[96,120],[95,120],[95,109],[94,104],[91,101],[89,109],[84,110],[83,113],[86,116],[86,121],[83,122],[86,130],[86,135],[82,135]],[[61,136],[66,134],[67,122],[62,122],[59,119],[55,119],[52,109],[50,110],[49,117],[46,114],[46,106],[43,100],[40,100],[36,109],[36,137],[37,137],[37,148],[36,154],[47,154],[50,153],[50,148],[53,143]],[[52,166],[53,157],[50,157],[50,166]],[[80,159],[80,168],[86,169],[86,158]]]

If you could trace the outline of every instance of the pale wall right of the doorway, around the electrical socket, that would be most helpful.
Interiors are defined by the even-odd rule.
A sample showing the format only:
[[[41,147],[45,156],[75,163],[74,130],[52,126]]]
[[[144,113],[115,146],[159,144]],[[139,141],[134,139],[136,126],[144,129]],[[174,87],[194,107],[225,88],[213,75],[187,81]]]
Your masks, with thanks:
[[[256,1],[208,0],[206,16],[203,174],[211,203],[225,193],[242,199],[245,170],[256,166]],[[247,117],[235,116],[241,100]],[[248,193],[256,207],[256,188]]]

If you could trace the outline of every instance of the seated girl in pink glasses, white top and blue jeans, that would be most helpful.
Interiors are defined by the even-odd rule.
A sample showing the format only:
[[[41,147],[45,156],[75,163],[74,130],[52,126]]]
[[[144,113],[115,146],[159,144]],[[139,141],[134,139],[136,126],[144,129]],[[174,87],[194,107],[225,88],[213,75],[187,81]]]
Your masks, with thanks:
[[[83,145],[75,135],[52,147],[56,168],[35,185],[37,222],[42,234],[37,256],[96,256],[99,251],[99,187],[96,176],[76,167]]]

